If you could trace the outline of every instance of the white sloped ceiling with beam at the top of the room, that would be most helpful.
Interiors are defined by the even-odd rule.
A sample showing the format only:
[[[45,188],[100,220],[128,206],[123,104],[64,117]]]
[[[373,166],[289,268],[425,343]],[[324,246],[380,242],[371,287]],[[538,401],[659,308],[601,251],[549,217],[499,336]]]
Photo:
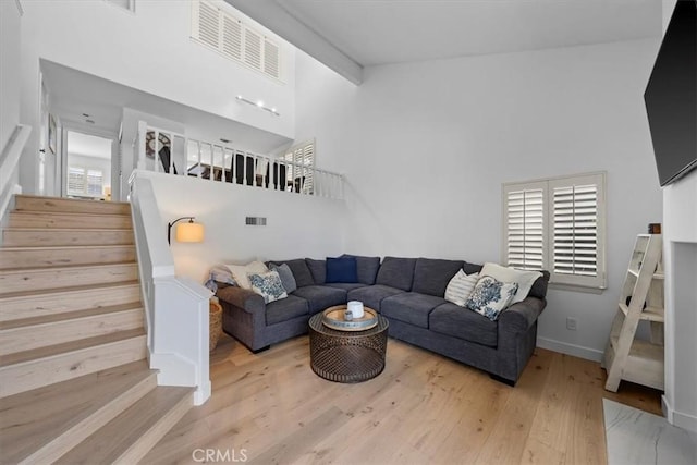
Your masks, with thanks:
[[[334,69],[661,34],[661,0],[227,1]]]

